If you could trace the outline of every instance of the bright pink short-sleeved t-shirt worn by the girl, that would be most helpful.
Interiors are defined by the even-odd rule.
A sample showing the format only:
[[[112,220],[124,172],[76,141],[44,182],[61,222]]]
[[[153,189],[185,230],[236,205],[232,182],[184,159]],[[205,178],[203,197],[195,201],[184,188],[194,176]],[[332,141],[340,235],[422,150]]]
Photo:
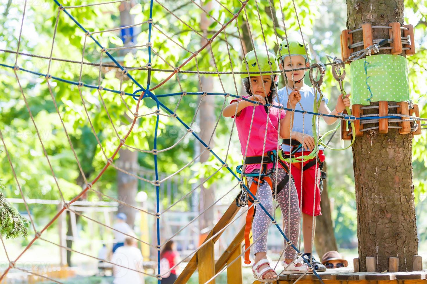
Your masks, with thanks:
[[[243,98],[248,98],[248,96],[243,96]],[[237,100],[232,100],[231,103],[234,103]],[[274,103],[279,106],[278,103]],[[249,137],[249,129],[251,126],[252,113],[255,108],[254,120],[252,123],[251,136]],[[248,152],[246,154],[249,156],[261,156],[264,153],[272,150],[277,150],[278,145],[278,122],[279,115],[280,119],[285,118],[285,111],[283,109],[278,109],[272,107],[267,119],[267,113],[263,105],[259,106],[247,106],[242,109],[240,115],[236,118],[236,128],[239,133],[240,147],[242,150],[242,155],[245,155],[246,144],[249,137]],[[234,116],[232,117],[234,118]],[[266,123],[267,123],[267,135],[266,135]],[[266,145],[263,151],[264,137],[266,136]],[[270,163],[267,165],[267,169],[271,169],[273,164]],[[252,172],[254,169],[261,169],[260,164],[251,164],[247,165],[244,172]]]

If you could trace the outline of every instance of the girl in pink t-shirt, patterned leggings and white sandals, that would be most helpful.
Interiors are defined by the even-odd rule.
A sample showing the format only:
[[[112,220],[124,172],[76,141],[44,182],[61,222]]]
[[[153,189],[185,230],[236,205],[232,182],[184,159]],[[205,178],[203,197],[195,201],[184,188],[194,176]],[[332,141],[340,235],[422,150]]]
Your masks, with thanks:
[[[242,72],[264,72],[278,70],[275,56],[266,51],[257,50],[251,51],[245,55],[246,60],[242,62]],[[260,73],[258,73],[260,74]],[[241,145],[242,155],[244,157],[263,156],[269,151],[277,151],[279,135],[287,137],[291,131],[291,117],[293,112],[285,112],[283,109],[276,107],[268,108],[266,103],[279,106],[273,101],[275,93],[275,83],[278,81],[278,75],[272,73],[262,73],[263,76],[257,74],[243,74],[243,84],[246,88],[246,98],[250,101],[255,101],[254,104],[247,100],[232,100],[231,103],[224,108],[223,115],[225,117],[235,118],[237,132]],[[301,95],[297,90],[294,90],[287,103],[287,108],[295,108],[295,104]],[[279,133],[280,123],[280,133]],[[246,151],[247,146],[247,151]],[[245,156],[246,152],[246,156]],[[267,163],[266,163],[267,162]],[[273,215],[274,206],[272,202],[273,191],[277,192],[275,196],[278,202],[282,215],[285,220],[286,230],[284,231],[287,237],[293,244],[297,244],[299,236],[300,211],[298,206],[298,195],[292,178],[287,176],[287,172],[281,167],[275,167],[272,172],[273,163],[268,163],[264,159],[263,164],[248,164],[243,167],[243,172],[247,174],[248,187],[254,182],[254,178],[249,175],[254,175],[260,171],[263,174],[269,173],[272,181],[272,187],[267,182],[260,182],[256,192],[256,198],[260,201],[263,207]],[[289,182],[282,189],[278,185],[285,178],[289,178]],[[277,186],[277,189],[276,189]],[[276,191],[277,190],[277,191]],[[289,210],[288,210],[289,209]],[[267,260],[267,234],[271,224],[271,219],[261,209],[258,204],[255,204],[255,216],[252,222],[252,235],[254,241],[254,266],[252,271],[254,277],[260,282],[271,282],[278,280],[278,275],[273,270]],[[289,264],[285,267],[286,271],[306,272],[308,269],[306,264],[294,263],[295,250],[285,243],[285,261]],[[309,271],[310,272],[310,271]]]

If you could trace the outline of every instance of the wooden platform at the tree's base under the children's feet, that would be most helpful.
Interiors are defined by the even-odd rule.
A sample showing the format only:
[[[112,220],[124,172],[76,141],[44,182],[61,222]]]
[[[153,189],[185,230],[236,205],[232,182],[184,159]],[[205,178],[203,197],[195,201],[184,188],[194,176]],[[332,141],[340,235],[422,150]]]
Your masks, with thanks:
[[[325,284],[427,284],[426,274],[427,271],[413,271],[413,272],[352,272],[351,269],[346,267],[328,269],[325,272],[319,272],[319,276]],[[292,284],[301,274],[279,275],[280,279],[275,281],[274,284]],[[319,279],[314,274],[304,275],[298,283],[312,284],[320,283]],[[254,284],[261,284],[259,281],[254,281]]]

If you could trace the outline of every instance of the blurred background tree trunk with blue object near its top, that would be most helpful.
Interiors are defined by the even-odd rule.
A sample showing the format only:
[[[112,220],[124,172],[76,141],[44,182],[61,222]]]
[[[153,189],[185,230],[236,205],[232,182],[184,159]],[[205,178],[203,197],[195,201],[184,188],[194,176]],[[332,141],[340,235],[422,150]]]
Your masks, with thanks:
[[[130,10],[134,5],[135,3],[133,0],[120,3],[120,26],[130,26],[135,23],[135,16],[130,14]],[[133,34],[133,36],[135,36],[135,34]],[[131,40],[132,37],[127,37],[123,45],[132,46],[133,43]],[[121,52],[121,55],[125,55],[126,53],[130,52],[130,50],[124,49]],[[124,78],[125,77],[126,76],[124,76]],[[129,118],[129,121],[130,120],[131,119]],[[117,159],[117,165],[128,172],[135,172],[137,168],[136,166],[138,165],[138,152],[132,152],[129,151],[129,149],[122,147],[119,153],[120,157]],[[117,171],[117,193],[118,199],[120,201],[126,202],[132,206],[136,206],[135,197],[137,194],[137,185],[137,178],[134,178],[124,172]],[[133,228],[136,210],[129,206],[119,205],[118,212],[123,212],[126,214],[126,223],[128,223],[129,226]]]

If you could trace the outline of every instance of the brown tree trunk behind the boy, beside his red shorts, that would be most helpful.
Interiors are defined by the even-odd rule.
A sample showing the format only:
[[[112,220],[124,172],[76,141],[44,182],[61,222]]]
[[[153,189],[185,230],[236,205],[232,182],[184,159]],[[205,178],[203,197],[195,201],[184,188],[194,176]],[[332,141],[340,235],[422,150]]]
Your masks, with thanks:
[[[326,162],[323,166],[323,171],[326,172]],[[323,181],[323,192],[320,196],[320,207],[322,215],[316,216],[316,232],[314,238],[314,246],[320,258],[330,250],[338,250],[336,246],[335,235],[333,231],[330,201],[328,196],[328,183]]]

